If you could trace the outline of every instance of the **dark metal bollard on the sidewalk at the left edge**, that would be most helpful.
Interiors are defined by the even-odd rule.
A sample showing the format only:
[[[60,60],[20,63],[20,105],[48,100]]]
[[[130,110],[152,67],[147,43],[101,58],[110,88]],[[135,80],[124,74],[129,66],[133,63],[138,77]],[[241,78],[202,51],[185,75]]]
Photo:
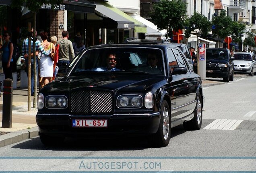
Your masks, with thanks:
[[[12,82],[13,80],[10,78],[4,80],[2,116],[3,128],[12,128]]]

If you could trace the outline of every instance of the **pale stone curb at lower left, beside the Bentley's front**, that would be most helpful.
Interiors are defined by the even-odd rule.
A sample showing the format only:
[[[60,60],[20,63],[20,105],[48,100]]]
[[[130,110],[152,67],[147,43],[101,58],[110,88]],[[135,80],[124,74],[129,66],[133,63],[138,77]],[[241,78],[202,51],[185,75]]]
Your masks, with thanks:
[[[38,127],[24,129],[16,132],[0,135],[0,147],[23,141],[38,136]]]

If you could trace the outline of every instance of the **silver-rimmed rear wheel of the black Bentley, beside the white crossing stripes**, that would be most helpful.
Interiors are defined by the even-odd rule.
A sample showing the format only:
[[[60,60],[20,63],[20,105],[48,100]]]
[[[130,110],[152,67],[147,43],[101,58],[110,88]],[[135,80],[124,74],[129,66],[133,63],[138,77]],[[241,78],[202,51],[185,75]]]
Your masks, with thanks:
[[[202,97],[198,93],[196,99],[196,107],[194,110],[194,117],[192,120],[183,123],[183,127],[186,130],[199,130],[202,126]]]

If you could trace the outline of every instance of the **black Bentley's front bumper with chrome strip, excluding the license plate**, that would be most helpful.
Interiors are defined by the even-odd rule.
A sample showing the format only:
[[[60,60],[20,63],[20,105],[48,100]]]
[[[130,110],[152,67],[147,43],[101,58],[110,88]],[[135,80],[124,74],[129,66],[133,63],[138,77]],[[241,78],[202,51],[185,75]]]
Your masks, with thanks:
[[[107,127],[72,127],[72,119],[107,119]],[[95,137],[106,135],[145,135],[156,133],[160,123],[160,113],[111,116],[70,116],[36,115],[41,134],[64,137]]]

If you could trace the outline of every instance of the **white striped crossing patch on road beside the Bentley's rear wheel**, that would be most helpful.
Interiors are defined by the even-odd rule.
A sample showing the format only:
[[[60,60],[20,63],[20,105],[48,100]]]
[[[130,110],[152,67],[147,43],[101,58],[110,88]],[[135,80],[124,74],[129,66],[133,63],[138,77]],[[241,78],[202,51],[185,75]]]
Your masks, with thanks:
[[[235,130],[244,120],[216,119],[204,130]]]

